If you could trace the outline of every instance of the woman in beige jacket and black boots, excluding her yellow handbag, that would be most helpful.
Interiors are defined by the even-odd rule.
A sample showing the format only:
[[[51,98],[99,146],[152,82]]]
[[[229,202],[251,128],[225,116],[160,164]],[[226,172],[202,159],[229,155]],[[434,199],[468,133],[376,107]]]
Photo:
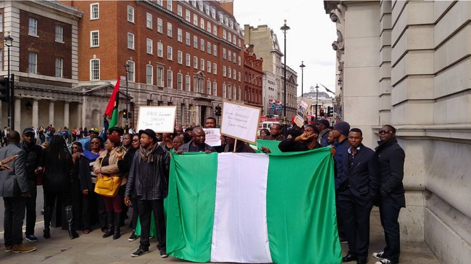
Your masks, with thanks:
[[[97,177],[105,176],[118,176],[121,178],[121,188],[125,188],[126,175],[122,173],[118,168],[118,157],[117,152],[126,152],[124,148],[120,148],[121,138],[117,134],[110,134],[107,136],[108,139],[105,142],[105,151],[103,151],[98,158],[97,162],[93,166]],[[108,238],[113,235],[113,239],[119,239],[121,236],[121,212],[122,201],[124,197],[116,193],[114,197],[103,197],[106,205],[106,219],[108,222],[108,232],[103,234],[104,238]],[[114,226],[113,226],[114,222]],[[114,228],[113,228],[114,227]]]

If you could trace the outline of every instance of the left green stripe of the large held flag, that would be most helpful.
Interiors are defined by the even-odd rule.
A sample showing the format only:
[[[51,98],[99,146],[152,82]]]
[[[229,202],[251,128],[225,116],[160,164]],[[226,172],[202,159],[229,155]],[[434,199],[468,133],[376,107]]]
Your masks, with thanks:
[[[166,246],[172,257],[211,260],[217,164],[217,153],[171,156]]]

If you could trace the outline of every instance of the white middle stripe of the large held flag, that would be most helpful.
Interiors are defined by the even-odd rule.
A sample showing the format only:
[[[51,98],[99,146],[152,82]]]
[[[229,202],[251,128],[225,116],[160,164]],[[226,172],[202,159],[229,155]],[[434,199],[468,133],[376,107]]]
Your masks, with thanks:
[[[218,154],[211,262],[272,263],[266,206],[268,163],[265,154]]]

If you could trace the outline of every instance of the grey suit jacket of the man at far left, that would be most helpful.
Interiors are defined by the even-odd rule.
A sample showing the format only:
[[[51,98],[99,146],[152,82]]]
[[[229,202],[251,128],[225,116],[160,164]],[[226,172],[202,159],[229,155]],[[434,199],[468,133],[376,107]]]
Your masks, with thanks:
[[[26,181],[26,152],[15,144],[8,144],[0,149],[0,160],[13,155],[19,155],[7,164],[13,171],[0,171],[0,197],[18,197],[29,192]]]

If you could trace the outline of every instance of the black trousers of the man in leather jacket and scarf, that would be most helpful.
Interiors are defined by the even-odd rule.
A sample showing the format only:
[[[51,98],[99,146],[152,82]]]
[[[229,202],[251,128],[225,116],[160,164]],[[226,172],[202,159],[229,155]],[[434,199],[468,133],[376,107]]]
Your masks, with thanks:
[[[154,213],[155,228],[157,229],[157,248],[166,250],[166,227],[164,216],[164,199],[157,200],[139,200],[139,218],[140,218],[140,249],[149,250],[149,233],[151,213]]]

